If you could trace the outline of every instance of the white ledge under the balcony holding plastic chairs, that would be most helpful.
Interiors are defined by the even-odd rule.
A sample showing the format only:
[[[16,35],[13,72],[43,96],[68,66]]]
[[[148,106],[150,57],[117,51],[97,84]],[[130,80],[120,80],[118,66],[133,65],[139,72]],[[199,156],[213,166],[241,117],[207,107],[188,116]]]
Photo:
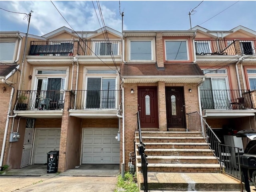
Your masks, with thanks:
[[[62,113],[62,110],[14,111],[14,114],[20,117],[36,119],[60,119],[62,118]]]

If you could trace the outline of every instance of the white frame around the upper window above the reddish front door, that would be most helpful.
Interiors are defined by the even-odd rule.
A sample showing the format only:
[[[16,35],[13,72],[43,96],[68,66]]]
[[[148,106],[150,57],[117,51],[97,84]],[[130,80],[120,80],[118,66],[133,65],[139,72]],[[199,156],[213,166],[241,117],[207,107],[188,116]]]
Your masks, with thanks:
[[[127,39],[127,60],[128,62],[140,62],[140,63],[152,63],[152,62],[156,62],[156,42],[155,42],[155,38],[154,37],[139,37],[139,38],[128,38]],[[131,53],[131,42],[151,42],[151,60],[131,60],[130,58],[130,53]]]

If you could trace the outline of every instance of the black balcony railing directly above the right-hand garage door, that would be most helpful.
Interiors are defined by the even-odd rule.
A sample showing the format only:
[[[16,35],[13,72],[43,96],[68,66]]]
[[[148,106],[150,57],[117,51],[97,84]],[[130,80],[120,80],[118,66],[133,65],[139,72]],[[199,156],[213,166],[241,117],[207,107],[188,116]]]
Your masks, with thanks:
[[[75,108],[118,109],[119,90],[77,90]]]

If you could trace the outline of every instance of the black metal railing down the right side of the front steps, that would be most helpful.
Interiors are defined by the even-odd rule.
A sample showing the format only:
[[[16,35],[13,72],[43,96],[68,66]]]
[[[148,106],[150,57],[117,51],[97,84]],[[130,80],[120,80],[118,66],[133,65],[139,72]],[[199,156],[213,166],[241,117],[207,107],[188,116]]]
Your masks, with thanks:
[[[189,131],[200,131],[202,133],[220,164],[221,172],[240,180],[241,191],[243,191],[239,154],[241,149],[235,146],[222,144],[220,139],[198,111],[187,113],[187,115]]]

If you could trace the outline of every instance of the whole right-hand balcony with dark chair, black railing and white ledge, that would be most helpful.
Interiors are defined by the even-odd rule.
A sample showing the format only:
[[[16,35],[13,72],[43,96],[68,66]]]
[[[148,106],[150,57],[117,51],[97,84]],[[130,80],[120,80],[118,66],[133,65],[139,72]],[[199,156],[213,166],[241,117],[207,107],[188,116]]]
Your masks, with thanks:
[[[246,117],[256,112],[250,90],[200,90],[200,98],[208,118]]]

